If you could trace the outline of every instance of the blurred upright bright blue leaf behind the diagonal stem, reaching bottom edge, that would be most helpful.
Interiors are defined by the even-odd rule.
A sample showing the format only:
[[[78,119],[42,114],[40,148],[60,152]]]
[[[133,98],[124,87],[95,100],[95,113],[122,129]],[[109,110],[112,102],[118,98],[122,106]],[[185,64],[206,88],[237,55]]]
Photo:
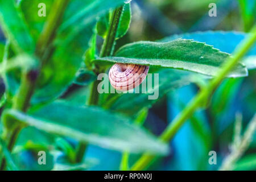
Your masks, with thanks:
[[[168,94],[168,122],[184,109],[195,96],[193,85],[184,86]],[[173,158],[167,170],[207,170],[208,152],[212,147],[212,135],[204,111],[194,113],[172,140]]]

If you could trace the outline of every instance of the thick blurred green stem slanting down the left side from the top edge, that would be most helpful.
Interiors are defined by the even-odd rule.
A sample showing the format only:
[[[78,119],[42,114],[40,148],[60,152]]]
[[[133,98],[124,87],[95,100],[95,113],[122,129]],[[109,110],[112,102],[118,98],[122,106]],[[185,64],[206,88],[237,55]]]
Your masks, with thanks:
[[[55,38],[57,28],[60,25],[61,19],[63,17],[65,7],[67,7],[69,0],[56,0],[53,3],[53,9],[55,11],[51,11],[49,14],[49,18],[47,19],[46,25],[44,26],[44,30],[39,37],[38,44],[36,46],[35,55],[39,57],[41,64],[44,65],[45,54],[47,47],[52,43]],[[42,68],[41,68],[42,69]],[[13,102],[13,109],[20,110],[26,112],[28,107],[30,106],[30,100],[32,94],[34,93],[36,80],[40,73],[40,69],[31,70],[27,73],[23,73],[22,80],[20,83],[20,88],[18,94],[15,96]],[[12,121],[9,121],[12,122]],[[22,130],[23,126],[20,123],[11,129],[7,130],[6,135],[4,136],[5,142],[7,143],[8,150],[12,151],[16,139],[18,138],[20,130]],[[1,159],[1,167],[0,170],[4,170],[6,168],[6,159]]]

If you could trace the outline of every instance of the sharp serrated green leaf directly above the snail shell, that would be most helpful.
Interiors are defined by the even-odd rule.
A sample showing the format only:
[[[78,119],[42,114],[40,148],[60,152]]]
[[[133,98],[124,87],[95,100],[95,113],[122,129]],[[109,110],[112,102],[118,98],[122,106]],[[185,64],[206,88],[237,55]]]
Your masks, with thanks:
[[[193,40],[177,39],[167,43],[137,42],[121,47],[115,57],[102,57],[96,63],[141,64],[152,67],[184,69],[216,76],[220,66],[229,58],[204,43]],[[229,77],[247,76],[245,65],[238,64]]]

